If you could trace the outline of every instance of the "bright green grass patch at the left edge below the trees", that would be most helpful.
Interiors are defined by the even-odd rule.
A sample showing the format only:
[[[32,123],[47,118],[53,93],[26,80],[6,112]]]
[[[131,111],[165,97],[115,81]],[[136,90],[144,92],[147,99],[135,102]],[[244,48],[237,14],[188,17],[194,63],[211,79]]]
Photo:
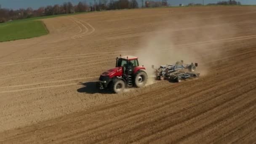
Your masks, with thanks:
[[[42,21],[21,20],[0,24],[0,42],[47,35]]]

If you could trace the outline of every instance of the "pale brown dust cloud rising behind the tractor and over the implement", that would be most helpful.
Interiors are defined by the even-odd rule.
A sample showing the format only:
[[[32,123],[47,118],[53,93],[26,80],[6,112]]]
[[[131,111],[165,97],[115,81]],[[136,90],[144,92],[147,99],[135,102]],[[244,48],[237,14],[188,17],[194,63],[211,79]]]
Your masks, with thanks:
[[[196,18],[190,18],[196,19]],[[170,23],[168,28],[158,29],[149,36],[141,38],[139,50],[135,56],[139,57],[140,65],[144,65],[148,75],[154,70],[152,65],[158,68],[160,65],[175,64],[176,61],[184,60],[184,64],[198,63],[196,72],[200,76],[208,75],[211,72],[210,65],[219,56],[225,42],[219,40],[219,36],[232,37],[232,27],[223,27],[227,22],[220,19],[214,21],[193,20],[191,23],[176,22]],[[225,33],[226,32],[226,33]],[[149,83],[152,78],[149,78]]]

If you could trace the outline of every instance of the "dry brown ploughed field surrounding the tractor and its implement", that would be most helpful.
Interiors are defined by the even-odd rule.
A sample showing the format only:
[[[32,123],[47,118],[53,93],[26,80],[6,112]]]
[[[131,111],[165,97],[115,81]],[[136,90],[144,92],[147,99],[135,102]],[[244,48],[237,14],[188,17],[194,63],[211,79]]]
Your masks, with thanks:
[[[256,141],[256,7],[156,8],[43,19],[49,35],[0,43],[0,143]],[[198,62],[197,79],[112,94],[115,57]]]

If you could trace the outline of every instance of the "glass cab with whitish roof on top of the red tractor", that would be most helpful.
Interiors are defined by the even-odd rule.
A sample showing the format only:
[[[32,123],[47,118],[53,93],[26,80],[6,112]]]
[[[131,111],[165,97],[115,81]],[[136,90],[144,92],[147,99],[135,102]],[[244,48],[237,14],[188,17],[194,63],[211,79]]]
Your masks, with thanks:
[[[132,74],[135,67],[139,67],[138,57],[135,56],[124,56],[116,58],[116,67],[123,67],[125,74]]]

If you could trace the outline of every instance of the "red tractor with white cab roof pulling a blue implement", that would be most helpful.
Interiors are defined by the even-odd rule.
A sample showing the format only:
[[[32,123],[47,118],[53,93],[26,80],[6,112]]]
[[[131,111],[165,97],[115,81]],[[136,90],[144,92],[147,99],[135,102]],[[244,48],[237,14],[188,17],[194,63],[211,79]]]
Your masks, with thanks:
[[[103,72],[99,77],[99,88],[109,88],[114,93],[124,91],[125,87],[141,88],[147,83],[147,73],[144,70],[144,66],[139,66],[138,57],[117,57],[115,68]]]

